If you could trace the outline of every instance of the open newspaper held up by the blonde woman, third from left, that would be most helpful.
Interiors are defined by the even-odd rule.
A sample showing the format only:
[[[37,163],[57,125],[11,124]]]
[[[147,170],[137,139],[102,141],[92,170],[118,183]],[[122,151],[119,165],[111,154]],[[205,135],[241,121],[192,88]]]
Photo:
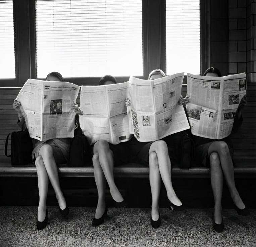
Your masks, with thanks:
[[[155,141],[189,129],[178,105],[184,73],[155,80],[129,79],[129,128],[138,141]]]

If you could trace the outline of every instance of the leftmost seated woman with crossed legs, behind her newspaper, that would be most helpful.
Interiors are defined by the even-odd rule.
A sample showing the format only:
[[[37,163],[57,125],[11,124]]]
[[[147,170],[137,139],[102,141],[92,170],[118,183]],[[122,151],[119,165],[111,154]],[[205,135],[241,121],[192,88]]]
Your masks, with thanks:
[[[63,77],[58,72],[52,72],[47,75],[48,81],[63,81]],[[24,116],[20,110],[20,102],[14,100],[13,108],[18,113],[18,125],[22,130],[27,128]],[[76,111],[76,106],[74,105]],[[69,209],[66,200],[60,188],[57,164],[67,163],[69,155],[71,138],[55,138],[47,141],[39,141],[32,138],[33,151],[32,160],[36,165],[38,176],[38,190],[39,190],[39,205],[38,205],[38,220],[37,229],[41,230],[47,226],[48,210],[46,209],[46,199],[48,192],[48,178],[56,193],[56,198],[59,204],[59,211],[61,215],[67,216]]]

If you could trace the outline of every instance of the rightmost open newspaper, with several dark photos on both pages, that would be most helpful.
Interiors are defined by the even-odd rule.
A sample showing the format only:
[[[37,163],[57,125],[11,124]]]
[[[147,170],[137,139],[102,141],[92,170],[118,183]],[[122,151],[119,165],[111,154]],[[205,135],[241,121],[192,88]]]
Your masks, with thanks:
[[[238,105],[246,94],[245,73],[223,77],[187,74],[186,105],[193,135],[222,139],[231,134]]]

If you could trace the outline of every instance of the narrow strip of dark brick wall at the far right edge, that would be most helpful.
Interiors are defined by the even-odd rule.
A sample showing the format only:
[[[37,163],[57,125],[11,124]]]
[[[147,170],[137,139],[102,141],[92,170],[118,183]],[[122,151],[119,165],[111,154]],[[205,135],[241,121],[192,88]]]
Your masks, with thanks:
[[[246,1],[247,82],[256,82],[256,0]]]

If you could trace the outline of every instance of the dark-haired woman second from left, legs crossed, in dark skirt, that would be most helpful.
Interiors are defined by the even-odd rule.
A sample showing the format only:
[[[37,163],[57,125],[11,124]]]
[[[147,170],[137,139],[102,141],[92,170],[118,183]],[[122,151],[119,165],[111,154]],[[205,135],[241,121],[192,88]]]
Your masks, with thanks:
[[[99,85],[110,85],[116,83],[117,80],[111,75],[106,75],[99,81]],[[122,142],[117,145],[113,145],[105,140],[98,140],[93,144],[92,152],[94,179],[98,190],[98,204],[95,216],[92,220],[92,226],[98,226],[104,223],[104,219],[107,217],[107,206],[105,202],[106,180],[109,185],[110,194],[115,207],[121,208],[127,206],[120,191],[116,187],[113,173],[114,165],[127,163],[127,159],[125,157],[125,154],[127,153],[126,143]]]

